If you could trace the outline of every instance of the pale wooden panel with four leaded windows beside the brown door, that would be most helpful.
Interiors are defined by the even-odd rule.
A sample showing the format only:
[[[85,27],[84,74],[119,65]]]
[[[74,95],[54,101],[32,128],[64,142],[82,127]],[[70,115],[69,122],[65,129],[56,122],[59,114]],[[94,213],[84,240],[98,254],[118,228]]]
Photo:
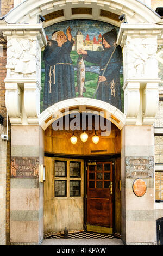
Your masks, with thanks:
[[[53,166],[52,231],[53,233],[63,232],[65,227],[69,231],[82,231],[84,161],[55,157]],[[60,184],[64,185],[60,186]]]

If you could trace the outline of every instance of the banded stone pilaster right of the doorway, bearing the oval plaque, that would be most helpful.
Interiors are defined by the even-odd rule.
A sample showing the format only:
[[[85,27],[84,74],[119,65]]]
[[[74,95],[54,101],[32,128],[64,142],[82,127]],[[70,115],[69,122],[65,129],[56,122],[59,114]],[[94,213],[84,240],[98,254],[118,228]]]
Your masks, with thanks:
[[[126,125],[121,137],[122,240],[127,245],[152,245],[156,243],[153,126]],[[137,178],[147,185],[142,197],[133,192],[133,182]]]

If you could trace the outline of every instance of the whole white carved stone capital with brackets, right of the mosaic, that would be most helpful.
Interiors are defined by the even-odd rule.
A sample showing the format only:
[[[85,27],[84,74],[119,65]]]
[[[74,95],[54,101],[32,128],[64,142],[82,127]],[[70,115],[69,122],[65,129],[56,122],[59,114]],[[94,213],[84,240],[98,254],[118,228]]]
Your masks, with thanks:
[[[123,47],[126,124],[153,124],[158,108],[158,44],[163,25],[122,23],[117,45]]]

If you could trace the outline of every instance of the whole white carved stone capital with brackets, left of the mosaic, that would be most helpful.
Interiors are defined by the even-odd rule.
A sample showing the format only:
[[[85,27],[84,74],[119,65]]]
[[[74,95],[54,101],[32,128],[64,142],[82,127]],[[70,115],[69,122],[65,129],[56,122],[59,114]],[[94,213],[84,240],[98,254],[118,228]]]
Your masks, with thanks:
[[[11,124],[38,124],[41,48],[47,44],[43,26],[40,23],[0,24],[0,31],[7,38],[7,76],[4,82]],[[10,102],[15,102],[15,108]]]

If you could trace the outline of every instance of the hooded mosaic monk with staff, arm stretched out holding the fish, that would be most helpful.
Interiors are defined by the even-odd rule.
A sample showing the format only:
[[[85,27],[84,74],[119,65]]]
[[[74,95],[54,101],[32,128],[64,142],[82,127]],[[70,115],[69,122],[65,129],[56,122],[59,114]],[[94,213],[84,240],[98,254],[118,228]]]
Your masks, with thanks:
[[[106,64],[116,46],[117,33],[116,29],[105,33],[102,36],[102,45],[104,51],[77,50],[78,54],[83,54],[84,59],[91,63],[99,64],[100,74],[98,78],[99,88],[97,90],[97,100],[102,100],[110,103],[116,108],[122,110],[121,105],[121,84],[120,84],[120,69],[122,63],[121,46],[117,46],[106,71],[103,74]]]

